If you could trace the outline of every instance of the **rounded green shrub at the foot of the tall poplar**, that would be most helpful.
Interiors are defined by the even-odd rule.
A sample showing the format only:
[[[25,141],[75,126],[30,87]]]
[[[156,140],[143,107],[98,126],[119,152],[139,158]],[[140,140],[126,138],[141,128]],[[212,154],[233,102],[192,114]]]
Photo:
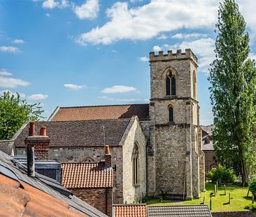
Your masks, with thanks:
[[[211,179],[211,181],[218,181],[218,183],[227,184],[233,183],[236,180],[236,174],[234,174],[233,170],[223,167],[222,165],[218,165],[208,172],[208,178]]]

